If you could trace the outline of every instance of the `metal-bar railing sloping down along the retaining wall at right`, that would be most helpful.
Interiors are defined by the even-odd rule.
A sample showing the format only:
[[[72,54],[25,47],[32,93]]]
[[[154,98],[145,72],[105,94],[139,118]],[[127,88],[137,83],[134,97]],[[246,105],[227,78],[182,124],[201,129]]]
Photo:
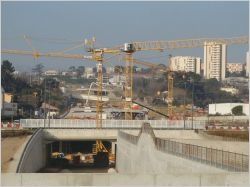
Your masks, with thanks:
[[[160,139],[155,137],[153,129],[149,124],[144,124],[142,126],[138,136],[122,131],[119,131],[118,136],[136,145],[141,133],[150,134],[153,138],[156,149],[159,151],[228,171],[248,172],[249,170],[249,155],[185,144],[169,139]]]

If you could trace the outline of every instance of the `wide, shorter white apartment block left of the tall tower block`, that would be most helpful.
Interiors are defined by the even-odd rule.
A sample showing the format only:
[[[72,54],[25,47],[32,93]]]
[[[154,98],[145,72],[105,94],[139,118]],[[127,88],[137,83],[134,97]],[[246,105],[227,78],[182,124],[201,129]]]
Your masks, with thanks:
[[[170,59],[172,71],[201,73],[201,58],[192,56],[175,56]]]

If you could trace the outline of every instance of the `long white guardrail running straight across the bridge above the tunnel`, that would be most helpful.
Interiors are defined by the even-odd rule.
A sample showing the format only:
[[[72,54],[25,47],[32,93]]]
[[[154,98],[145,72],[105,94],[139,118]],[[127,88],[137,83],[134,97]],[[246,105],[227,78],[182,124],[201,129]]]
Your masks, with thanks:
[[[95,120],[76,119],[21,119],[23,128],[96,128]],[[183,120],[103,120],[102,128],[140,129],[143,123],[150,123],[154,129],[205,129],[204,121]]]

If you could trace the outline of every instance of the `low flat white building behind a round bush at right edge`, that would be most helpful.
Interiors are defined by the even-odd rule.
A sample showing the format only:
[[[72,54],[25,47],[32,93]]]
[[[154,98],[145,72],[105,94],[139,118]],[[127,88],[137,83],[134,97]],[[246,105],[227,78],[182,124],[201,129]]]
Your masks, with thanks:
[[[208,113],[209,114],[220,114],[228,115],[232,114],[232,109],[236,106],[242,106],[242,112],[245,115],[249,115],[249,104],[247,103],[215,103],[209,104]]]

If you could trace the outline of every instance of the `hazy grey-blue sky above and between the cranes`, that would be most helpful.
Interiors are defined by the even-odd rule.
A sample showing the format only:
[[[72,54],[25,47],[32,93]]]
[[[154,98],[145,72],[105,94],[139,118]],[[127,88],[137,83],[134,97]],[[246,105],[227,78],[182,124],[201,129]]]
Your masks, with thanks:
[[[113,47],[131,41],[227,38],[249,35],[248,2],[1,2],[1,48],[40,52],[60,51],[96,37],[96,46]],[[248,45],[228,46],[227,60],[245,63]],[[84,48],[68,53],[86,54]],[[203,58],[203,49],[137,52],[135,57],[167,64],[168,55]],[[151,58],[150,58],[151,57]],[[154,57],[154,58],[152,58]],[[18,71],[37,63],[45,69],[94,66],[87,60],[2,55]],[[106,66],[124,64],[111,58]]]

